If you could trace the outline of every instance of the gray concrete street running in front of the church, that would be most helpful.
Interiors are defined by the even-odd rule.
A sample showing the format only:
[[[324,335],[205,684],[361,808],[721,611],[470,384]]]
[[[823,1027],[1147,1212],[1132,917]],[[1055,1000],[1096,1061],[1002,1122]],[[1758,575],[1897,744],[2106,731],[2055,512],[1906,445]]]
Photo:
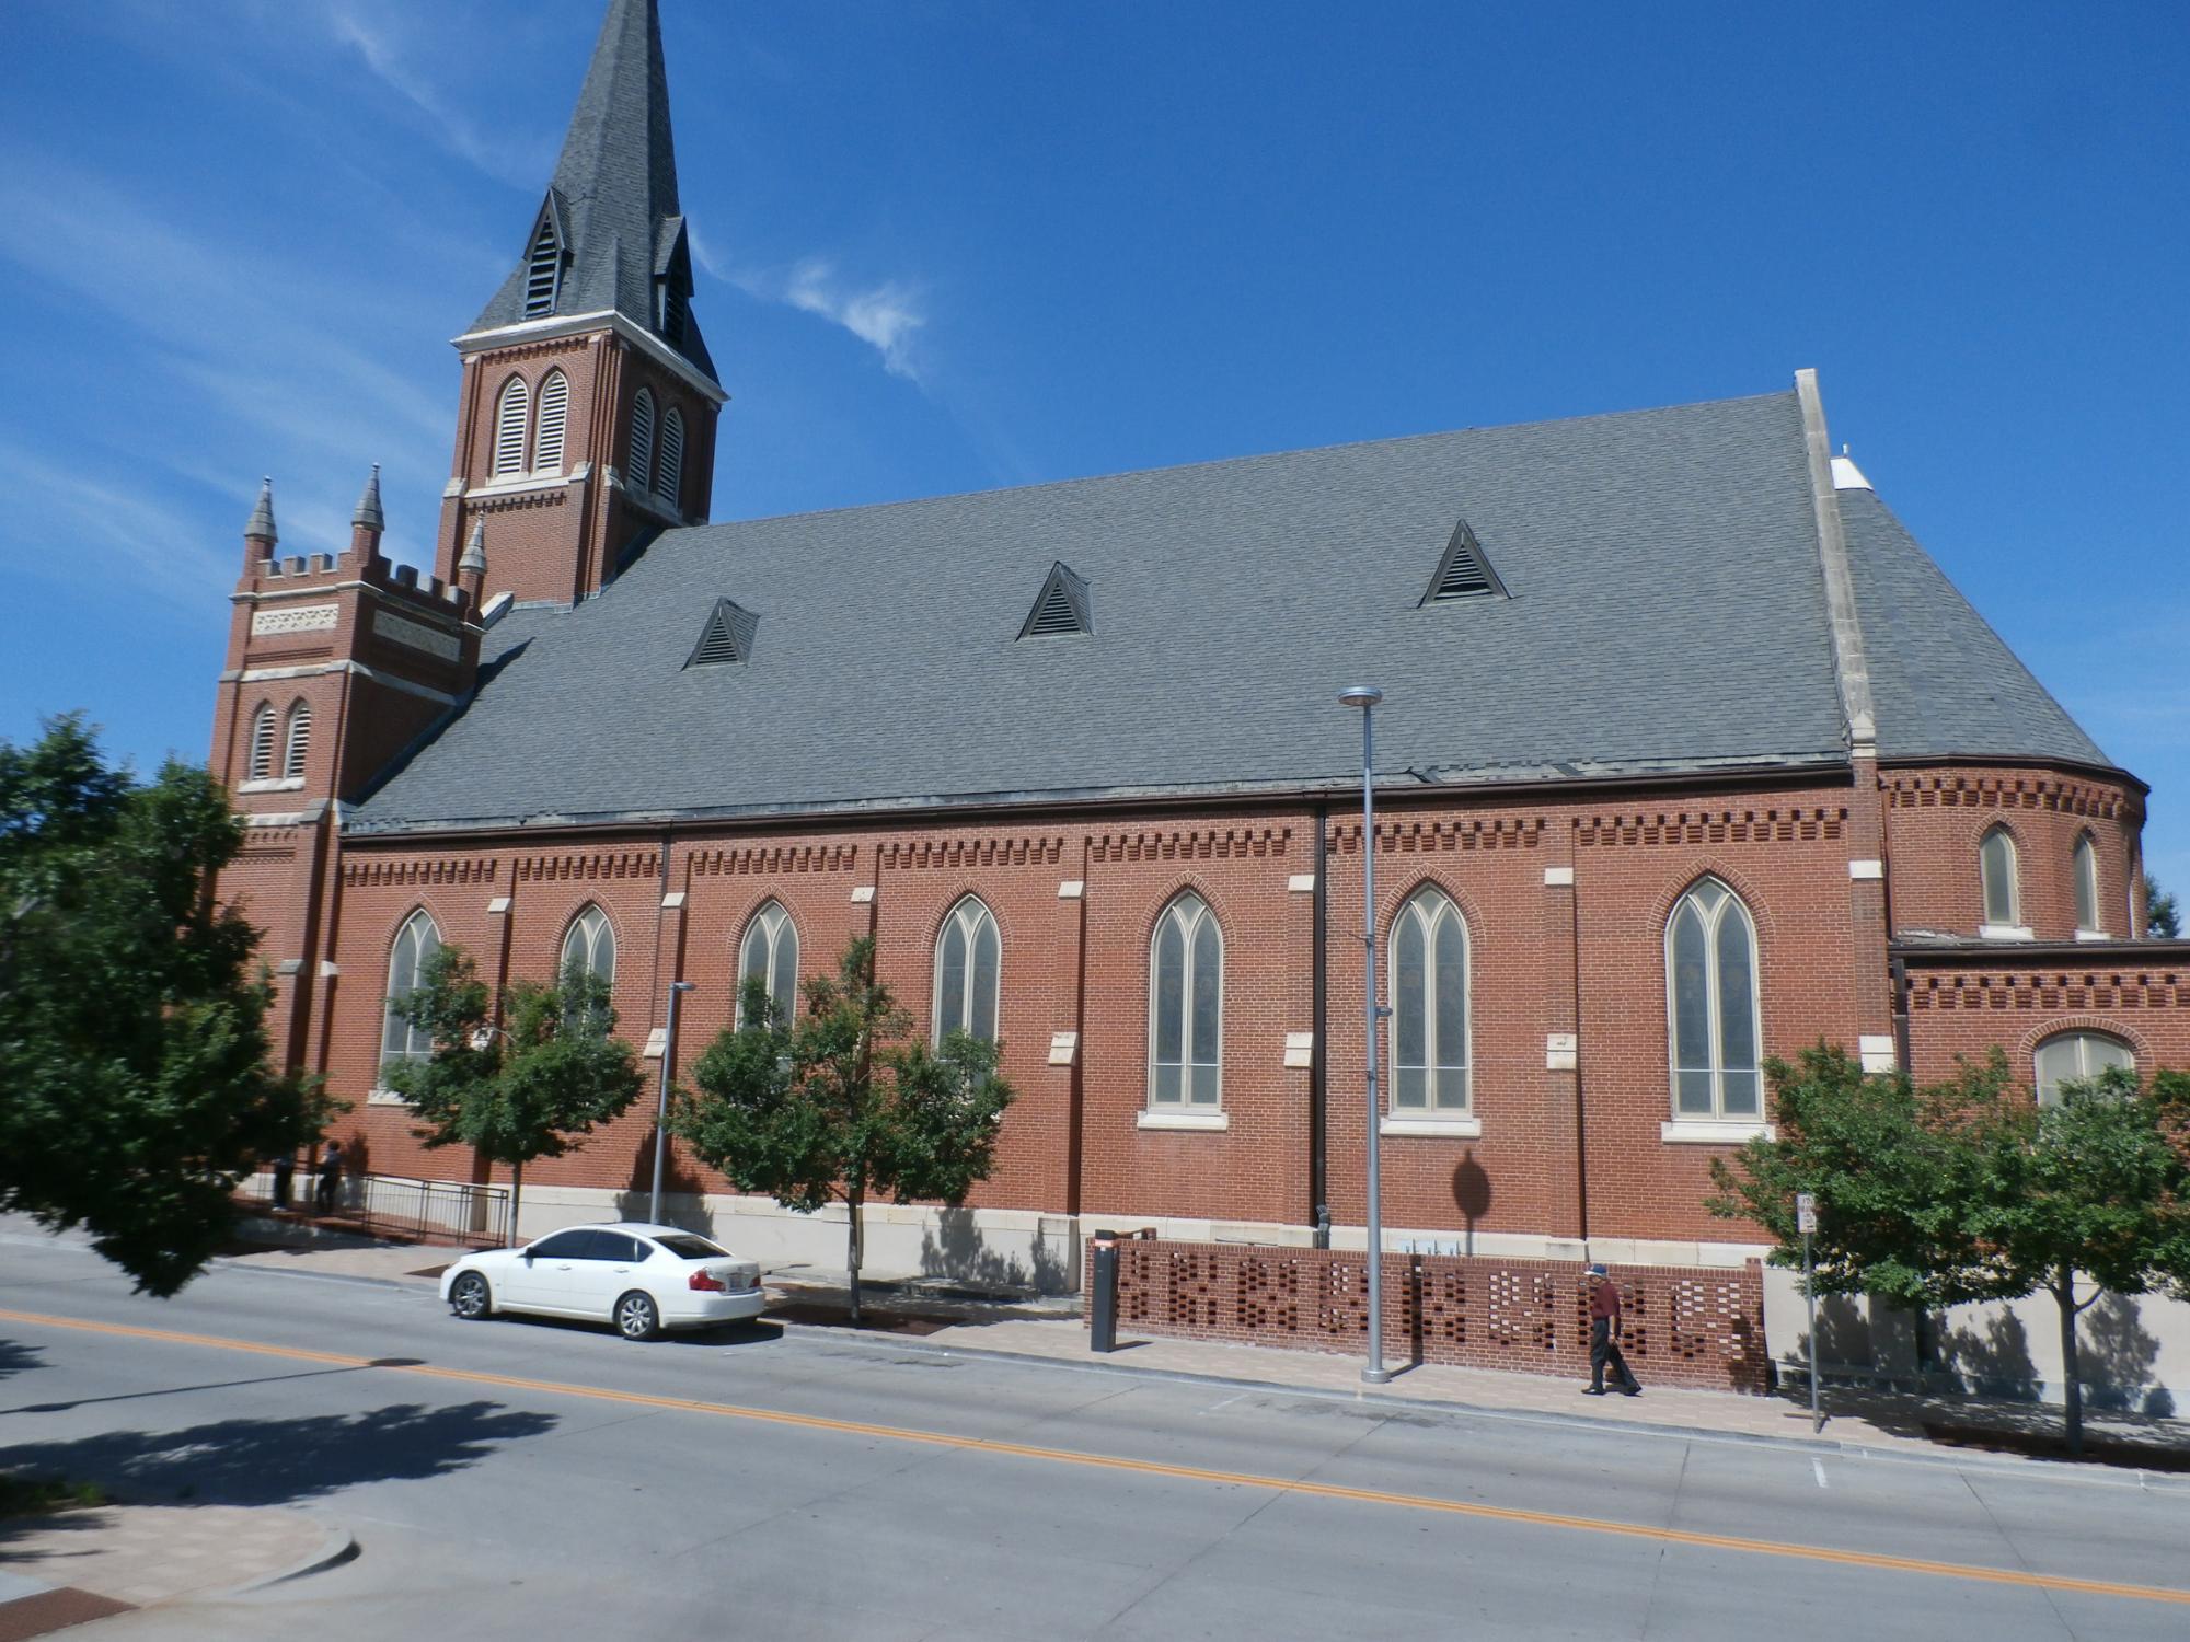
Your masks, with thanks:
[[[766,1327],[631,1346],[272,1272],[151,1303],[22,1241],[0,1244],[0,1465],[357,1537],[326,1572],[83,1638],[2190,1633],[2164,1600],[2190,1587],[2190,1491],[2133,1476]]]

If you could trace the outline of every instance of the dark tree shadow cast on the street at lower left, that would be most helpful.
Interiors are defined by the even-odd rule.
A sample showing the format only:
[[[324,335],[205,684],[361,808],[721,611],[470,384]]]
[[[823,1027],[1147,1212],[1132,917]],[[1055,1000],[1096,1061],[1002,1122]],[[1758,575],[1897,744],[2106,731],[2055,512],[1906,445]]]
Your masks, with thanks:
[[[361,1414],[226,1419],[177,1432],[18,1443],[0,1447],[0,1471],[96,1482],[123,1502],[296,1504],[357,1482],[445,1476],[484,1460],[497,1443],[541,1436],[554,1425],[554,1414],[486,1401],[390,1403]]]

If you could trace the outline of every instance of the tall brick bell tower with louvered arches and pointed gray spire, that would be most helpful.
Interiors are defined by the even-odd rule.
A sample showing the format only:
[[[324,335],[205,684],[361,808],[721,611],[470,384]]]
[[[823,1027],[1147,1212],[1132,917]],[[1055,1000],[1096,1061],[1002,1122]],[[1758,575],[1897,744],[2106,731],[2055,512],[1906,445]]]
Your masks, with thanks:
[[[517,265],[456,350],[445,582],[484,534],[482,602],[572,604],[707,519],[727,394],[692,315],[655,0],[611,0]]]

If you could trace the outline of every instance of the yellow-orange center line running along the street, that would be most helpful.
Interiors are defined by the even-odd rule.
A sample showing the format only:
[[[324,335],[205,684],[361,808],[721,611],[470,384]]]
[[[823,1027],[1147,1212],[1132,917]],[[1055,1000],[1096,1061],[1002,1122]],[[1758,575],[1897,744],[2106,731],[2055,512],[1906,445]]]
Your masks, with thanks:
[[[491,1375],[477,1368],[442,1368],[438,1364],[385,1364],[374,1357],[348,1357],[335,1351],[307,1351],[302,1346],[272,1346],[256,1340],[223,1340],[204,1333],[177,1333],[171,1329],[138,1329],[127,1322],[90,1322],[85,1318],[55,1318],[37,1311],[0,1309],[0,1322],[33,1322],[48,1329],[79,1329],[83,1333],[112,1333],[127,1340],[158,1340],[162,1344],[208,1346],[212,1351],[252,1351],[263,1357],[289,1357],[296,1362],[324,1362],[337,1368],[383,1368],[394,1375],[423,1375],[427,1379],[453,1379],[473,1386],[502,1386],[506,1390],[539,1390],[554,1397],[587,1397],[604,1403],[629,1403],[633,1408],[664,1408],[683,1414],[716,1414],[721,1419],[747,1419],[764,1425],[793,1425],[808,1432],[837,1432],[841,1436],[878,1436],[891,1443],[924,1443],[929,1447],[950,1447],[970,1454],[1003,1454],[1018,1460],[1045,1460],[1051,1465],[1082,1465],[1102,1471],[1132,1471],[1137,1476],[1165,1476],[1185,1482],[1215,1482],[1235,1489],[1270,1489],[1277,1493],[1301,1493],[1316,1500],[1351,1500],[1358,1504],[1399,1506],[1404,1511],[1437,1511],[1452,1517],[1478,1517],[1487,1522],[1522,1522],[1535,1528],[1566,1528],[1575,1533],[1618,1535],[1623,1539],[1651,1539],[1662,1546],[1699,1546],[1704,1550],[1741,1550],[1759,1557],[1794,1557],[1798,1561],[1835,1563],[1840,1568],[1875,1568],[1897,1574],[1929,1574],[1936,1579],[1975,1579],[1991,1585],[2019,1585],[2041,1592],[2076,1592],[2083,1596],[2126,1596],[2140,1603],[2179,1603],[2190,1607],[2190,1589],[2166,1585],[2122,1585],[2105,1579],[2074,1579],[2070,1574],[2030,1574],[2017,1568],[1982,1568],[1975,1563],[1938,1563],[1921,1557],[1883,1557],[1870,1550],[1833,1550],[1831,1546],[1802,1546],[1778,1539],[1743,1539],[1739,1535],[1706,1535],[1684,1528],[1651,1528],[1638,1522],[1610,1522],[1605,1517],[1570,1517],[1557,1511],[1522,1511],[1518,1506],[1472,1504],[1465,1500],[1439,1500],[1426,1493],[1386,1493],[1382,1489],[1347,1489],[1336,1482],[1307,1482],[1277,1476],[1255,1476],[1250,1471],[1211,1471],[1198,1465],[1163,1465],[1161,1460],[1132,1460],[1119,1454],[1084,1454],[1062,1447],[1034,1447],[1027,1443],[996,1443],[986,1436],[953,1436],[950,1432],[922,1432],[904,1425],[874,1425],[856,1419],[826,1419],[821,1414],[786,1414],[773,1408],[742,1408],[738,1403],[710,1403],[690,1397],[650,1397],[637,1390],[611,1390],[607,1386],[572,1386],[558,1379],[526,1379],[523,1375]]]

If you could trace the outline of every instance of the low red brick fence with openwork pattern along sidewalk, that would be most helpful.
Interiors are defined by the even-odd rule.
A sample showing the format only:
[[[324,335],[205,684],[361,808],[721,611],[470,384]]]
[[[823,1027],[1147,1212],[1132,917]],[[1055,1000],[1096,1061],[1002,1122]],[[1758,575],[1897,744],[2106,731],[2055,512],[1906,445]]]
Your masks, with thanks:
[[[1095,1294],[1093,1246],[1082,1294]],[[1384,1254],[1384,1355],[1531,1375],[1590,1373],[1577,1261]],[[1660,1386],[1763,1392],[1763,1268],[1621,1265],[1621,1349]],[[1119,1329],[1356,1353],[1369,1333],[1358,1252],[1237,1244],[1117,1246]]]

